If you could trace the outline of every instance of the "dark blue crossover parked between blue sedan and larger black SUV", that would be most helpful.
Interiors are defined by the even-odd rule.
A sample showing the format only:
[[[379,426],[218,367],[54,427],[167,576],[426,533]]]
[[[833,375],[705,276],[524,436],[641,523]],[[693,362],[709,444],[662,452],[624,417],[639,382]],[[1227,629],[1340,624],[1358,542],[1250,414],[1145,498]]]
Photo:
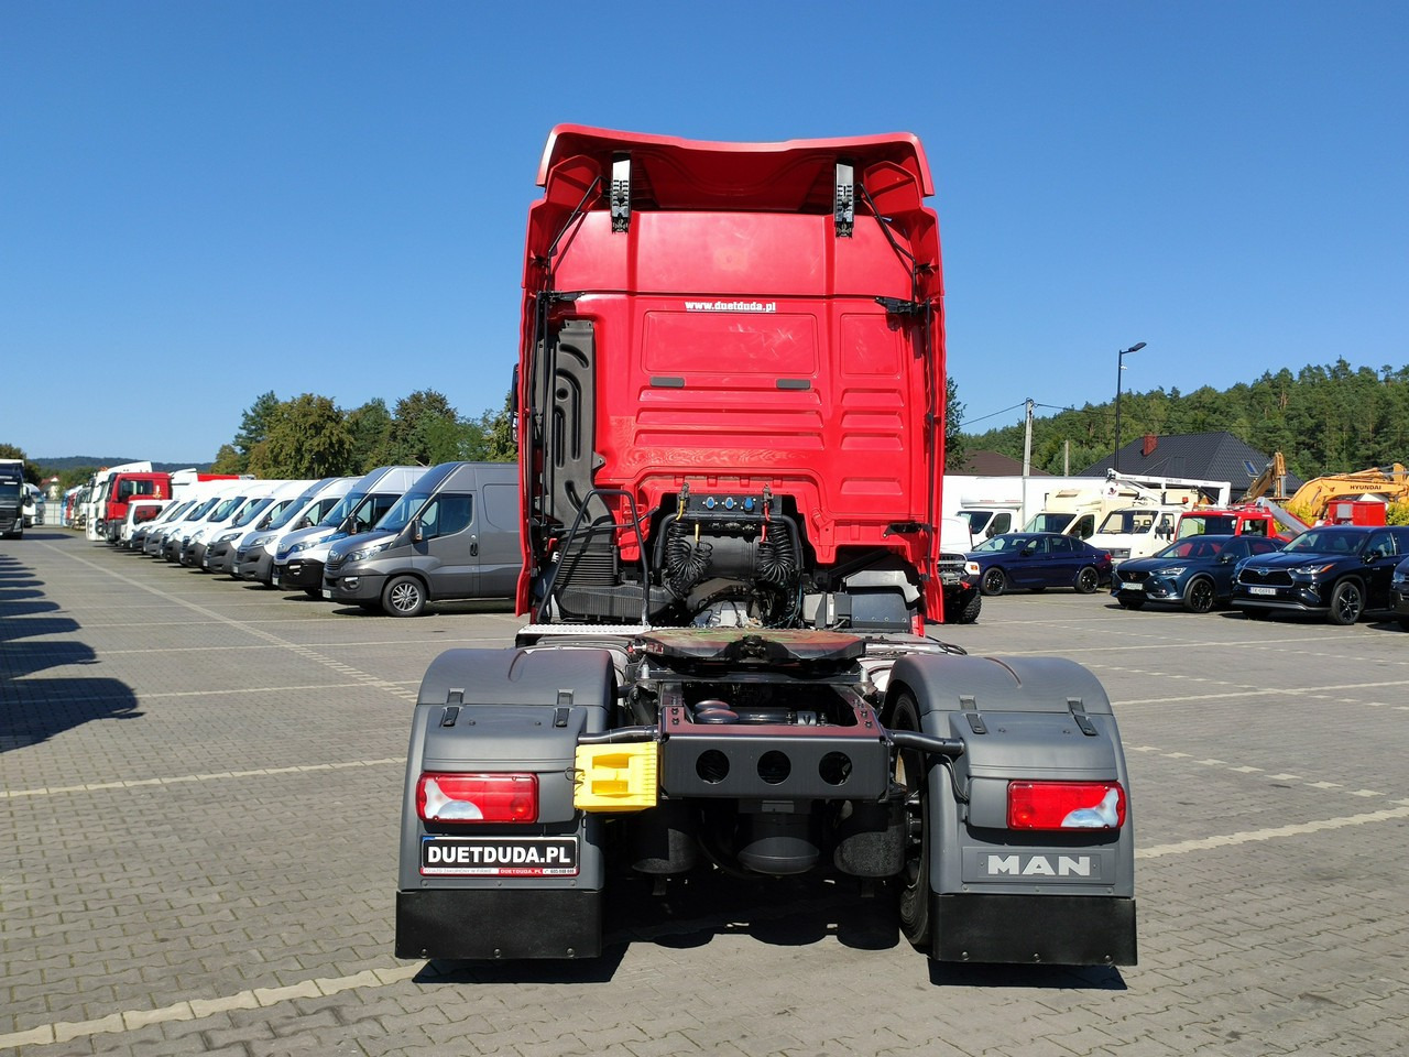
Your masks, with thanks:
[[[1110,593],[1124,609],[1161,602],[1208,613],[1231,600],[1237,562],[1279,551],[1282,545],[1282,540],[1265,536],[1185,536],[1158,554],[1116,565]]]

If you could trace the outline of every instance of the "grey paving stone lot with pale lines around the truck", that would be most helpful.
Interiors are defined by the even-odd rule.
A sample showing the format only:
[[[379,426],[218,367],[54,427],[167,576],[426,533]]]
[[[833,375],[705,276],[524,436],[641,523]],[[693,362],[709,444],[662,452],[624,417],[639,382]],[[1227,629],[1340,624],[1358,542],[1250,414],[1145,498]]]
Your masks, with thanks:
[[[613,894],[606,957],[392,956],[410,702],[506,606],[392,620],[68,530],[0,544],[0,1053],[1409,1053],[1409,634],[1105,595],[931,631],[1088,665],[1140,964],[931,965],[812,882]]]

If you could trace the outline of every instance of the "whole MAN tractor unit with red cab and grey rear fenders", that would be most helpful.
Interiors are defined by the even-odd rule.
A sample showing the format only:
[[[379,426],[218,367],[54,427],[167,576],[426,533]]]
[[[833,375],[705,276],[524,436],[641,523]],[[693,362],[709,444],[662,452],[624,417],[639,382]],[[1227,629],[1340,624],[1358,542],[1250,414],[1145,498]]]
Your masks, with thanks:
[[[397,956],[590,958],[612,886],[813,875],[893,899],[940,961],[1133,964],[1100,684],[926,636],[945,382],[920,142],[561,125],[538,185],[527,623],[421,682]]]

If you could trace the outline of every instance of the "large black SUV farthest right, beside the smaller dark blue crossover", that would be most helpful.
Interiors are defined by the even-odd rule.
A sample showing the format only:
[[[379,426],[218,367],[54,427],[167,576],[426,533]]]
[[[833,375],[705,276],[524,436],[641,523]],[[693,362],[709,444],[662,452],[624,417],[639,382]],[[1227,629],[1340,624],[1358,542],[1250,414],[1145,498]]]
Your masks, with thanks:
[[[1409,526],[1308,528],[1277,554],[1239,562],[1233,605],[1251,617],[1288,609],[1354,624],[1368,610],[1392,606],[1389,579],[1406,555]]]

